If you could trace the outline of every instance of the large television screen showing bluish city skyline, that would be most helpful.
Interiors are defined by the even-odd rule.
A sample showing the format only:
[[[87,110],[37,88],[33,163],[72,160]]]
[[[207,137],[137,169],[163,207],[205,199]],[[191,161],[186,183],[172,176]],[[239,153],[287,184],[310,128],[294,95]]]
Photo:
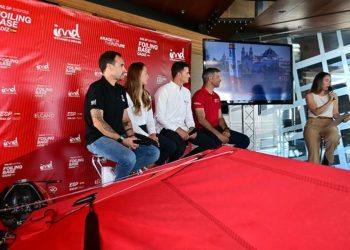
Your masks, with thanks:
[[[293,103],[292,46],[203,40],[204,68],[221,71],[215,91],[231,104]]]

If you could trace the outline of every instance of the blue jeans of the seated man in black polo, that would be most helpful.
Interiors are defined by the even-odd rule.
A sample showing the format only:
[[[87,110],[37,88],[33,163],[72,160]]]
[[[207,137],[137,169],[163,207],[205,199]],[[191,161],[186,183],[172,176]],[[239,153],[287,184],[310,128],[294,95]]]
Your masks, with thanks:
[[[116,174],[115,180],[124,178],[131,171],[137,171],[144,166],[154,163],[159,158],[159,149],[153,145],[139,145],[133,151],[106,136],[102,136],[87,145],[87,149],[93,154],[103,156],[117,163],[114,169]]]

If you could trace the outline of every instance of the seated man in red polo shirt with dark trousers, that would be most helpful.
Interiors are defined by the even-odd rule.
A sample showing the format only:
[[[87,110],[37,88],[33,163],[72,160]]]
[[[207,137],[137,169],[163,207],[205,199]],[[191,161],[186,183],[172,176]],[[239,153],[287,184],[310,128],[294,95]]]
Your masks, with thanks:
[[[249,137],[230,130],[221,113],[221,101],[215,88],[220,86],[221,75],[217,68],[204,70],[203,87],[192,97],[198,137],[207,141],[208,147],[216,148],[229,143],[238,148],[249,146]]]

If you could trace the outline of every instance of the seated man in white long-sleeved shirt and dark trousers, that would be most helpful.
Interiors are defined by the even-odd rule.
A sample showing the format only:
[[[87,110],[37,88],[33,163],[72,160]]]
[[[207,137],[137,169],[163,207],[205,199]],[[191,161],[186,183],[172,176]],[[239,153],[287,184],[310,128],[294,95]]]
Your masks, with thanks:
[[[160,87],[155,93],[155,119],[157,132],[176,143],[176,151],[169,158],[169,161],[175,161],[185,152],[188,140],[197,144],[193,141],[197,133],[191,133],[195,127],[191,92],[183,86],[190,78],[189,65],[175,62],[171,67],[171,74],[173,81]],[[200,151],[201,145],[196,153]]]

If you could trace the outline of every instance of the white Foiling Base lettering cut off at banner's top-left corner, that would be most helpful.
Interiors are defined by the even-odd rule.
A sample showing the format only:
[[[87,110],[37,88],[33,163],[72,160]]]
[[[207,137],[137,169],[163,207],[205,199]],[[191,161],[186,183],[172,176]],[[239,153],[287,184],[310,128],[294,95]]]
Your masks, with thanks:
[[[0,5],[0,31],[3,32],[17,32],[20,23],[31,24],[32,19],[26,10],[12,8],[11,6]],[[20,12],[22,14],[18,14]]]

